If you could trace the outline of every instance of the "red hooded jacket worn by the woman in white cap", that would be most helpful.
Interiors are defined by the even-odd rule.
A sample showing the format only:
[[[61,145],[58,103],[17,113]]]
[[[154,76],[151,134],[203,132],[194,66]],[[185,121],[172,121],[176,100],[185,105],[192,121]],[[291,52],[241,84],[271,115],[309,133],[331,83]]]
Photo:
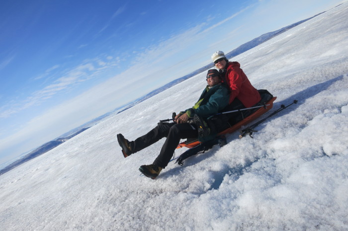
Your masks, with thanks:
[[[229,103],[237,98],[246,108],[250,108],[261,100],[261,96],[240,67],[239,62],[227,63],[225,79],[231,91]]]

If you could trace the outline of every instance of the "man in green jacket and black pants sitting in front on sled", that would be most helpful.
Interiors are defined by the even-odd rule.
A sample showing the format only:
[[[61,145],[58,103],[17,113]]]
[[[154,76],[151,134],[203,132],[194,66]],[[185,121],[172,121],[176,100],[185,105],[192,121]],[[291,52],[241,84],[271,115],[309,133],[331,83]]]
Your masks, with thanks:
[[[209,119],[211,115],[222,111],[229,102],[229,92],[227,87],[221,83],[221,75],[218,70],[211,69],[207,73],[207,86],[204,88],[197,103],[190,109],[180,112],[174,117],[172,123],[160,123],[134,141],[128,141],[122,134],[117,134],[117,140],[122,148],[124,157],[136,153],[160,139],[167,137],[160,154],[152,165],[143,165],[139,171],[155,179],[171,160],[180,139],[197,138],[198,136],[215,137],[215,135],[225,129],[219,125],[214,126],[214,122]],[[204,120],[203,120],[204,119]],[[214,129],[202,129],[205,120]],[[221,121],[219,121],[221,123]],[[203,124],[204,123],[204,124]]]

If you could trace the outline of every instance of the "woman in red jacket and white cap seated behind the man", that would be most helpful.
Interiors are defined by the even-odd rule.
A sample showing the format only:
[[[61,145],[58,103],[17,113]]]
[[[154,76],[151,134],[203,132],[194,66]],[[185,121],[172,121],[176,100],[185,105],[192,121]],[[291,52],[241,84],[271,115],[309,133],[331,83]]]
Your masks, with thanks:
[[[230,105],[224,110],[233,111],[236,109],[250,108],[261,100],[260,93],[250,83],[247,75],[240,68],[239,62],[230,62],[222,51],[215,52],[211,59],[215,67],[219,69],[223,81],[228,85],[230,90]],[[235,123],[243,118],[235,113],[228,116],[230,123]],[[232,118],[232,119],[231,119]],[[232,125],[232,124],[230,124]]]

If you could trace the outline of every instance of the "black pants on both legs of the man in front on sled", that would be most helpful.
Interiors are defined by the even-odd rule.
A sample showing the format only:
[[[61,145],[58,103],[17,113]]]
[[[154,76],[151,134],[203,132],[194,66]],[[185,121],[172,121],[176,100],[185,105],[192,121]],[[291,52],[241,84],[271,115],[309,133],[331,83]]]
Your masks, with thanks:
[[[154,164],[165,168],[172,159],[174,151],[180,142],[180,139],[196,138],[198,131],[193,124],[190,123],[164,123],[157,125],[146,135],[130,142],[133,152],[138,152],[146,147],[156,143],[160,139],[167,137],[166,142],[162,146],[161,152],[154,161]]]

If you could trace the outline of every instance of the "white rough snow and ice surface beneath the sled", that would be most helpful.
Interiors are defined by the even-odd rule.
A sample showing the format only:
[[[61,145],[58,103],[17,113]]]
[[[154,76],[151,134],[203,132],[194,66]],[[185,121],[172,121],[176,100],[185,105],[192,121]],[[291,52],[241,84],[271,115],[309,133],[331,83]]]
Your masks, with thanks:
[[[277,96],[268,114],[298,100],[254,139],[235,132],[156,180],[138,168],[164,139],[123,158],[116,134],[191,107],[198,74],[1,175],[1,230],[348,230],[347,15],[345,3],[233,58]]]

